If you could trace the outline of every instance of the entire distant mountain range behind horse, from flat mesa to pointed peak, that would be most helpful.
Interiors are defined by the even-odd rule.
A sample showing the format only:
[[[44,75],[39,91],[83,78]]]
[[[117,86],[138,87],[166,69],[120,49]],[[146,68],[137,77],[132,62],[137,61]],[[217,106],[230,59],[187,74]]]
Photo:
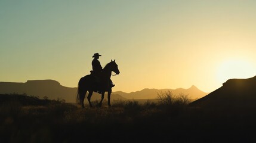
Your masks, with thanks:
[[[183,94],[189,94],[192,99],[201,98],[206,95],[205,92],[200,91],[196,86],[191,86],[189,89],[143,89],[141,91],[125,93],[122,91],[112,92],[111,100],[147,100],[156,99],[158,93],[171,91],[174,95],[178,95],[181,92]],[[27,80],[26,83],[15,82],[0,82],[0,94],[27,94],[44,98],[47,96],[49,99],[64,99],[66,102],[76,102],[77,88],[68,88],[60,85],[55,80]],[[88,93],[87,93],[88,94]],[[101,95],[94,92],[91,97],[92,100],[100,100]],[[105,95],[105,99],[107,96]]]

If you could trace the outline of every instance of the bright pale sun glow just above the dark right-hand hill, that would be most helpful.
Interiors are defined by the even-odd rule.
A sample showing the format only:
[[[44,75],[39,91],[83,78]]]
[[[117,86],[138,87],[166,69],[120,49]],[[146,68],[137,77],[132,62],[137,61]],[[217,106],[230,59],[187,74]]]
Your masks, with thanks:
[[[246,79],[256,74],[256,68],[245,60],[224,61],[218,69],[217,79],[226,82],[228,79]]]

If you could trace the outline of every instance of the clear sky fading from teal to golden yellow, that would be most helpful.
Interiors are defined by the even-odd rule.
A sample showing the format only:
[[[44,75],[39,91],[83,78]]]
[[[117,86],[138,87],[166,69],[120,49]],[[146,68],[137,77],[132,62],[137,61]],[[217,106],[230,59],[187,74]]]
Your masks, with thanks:
[[[0,81],[77,87],[98,52],[116,60],[113,91],[256,76],[256,1],[0,1]]]

